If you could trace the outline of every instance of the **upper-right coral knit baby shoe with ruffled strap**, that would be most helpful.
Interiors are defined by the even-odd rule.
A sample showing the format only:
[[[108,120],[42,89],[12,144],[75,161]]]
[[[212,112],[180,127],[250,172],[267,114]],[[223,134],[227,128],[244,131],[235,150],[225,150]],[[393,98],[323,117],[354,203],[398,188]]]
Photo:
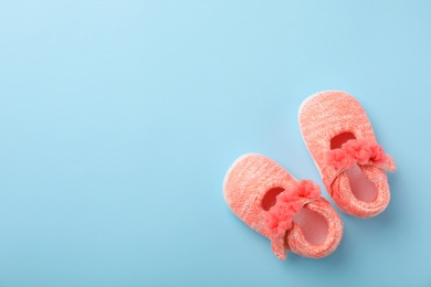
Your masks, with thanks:
[[[339,91],[317,93],[301,105],[299,128],[323,182],[337,206],[371,217],[389,204],[386,171],[393,159],[377,144],[361,105]]]

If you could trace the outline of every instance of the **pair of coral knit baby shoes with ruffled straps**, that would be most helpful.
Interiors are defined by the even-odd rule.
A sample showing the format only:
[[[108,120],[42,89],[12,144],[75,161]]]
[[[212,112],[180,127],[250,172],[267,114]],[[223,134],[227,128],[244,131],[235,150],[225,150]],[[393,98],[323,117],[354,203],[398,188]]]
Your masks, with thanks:
[[[371,217],[389,203],[386,171],[393,159],[377,144],[361,105],[345,92],[317,93],[301,105],[304,142],[335,204],[343,212]],[[238,217],[270,238],[280,259],[286,252],[319,258],[343,237],[343,222],[320,188],[296,180],[272,159],[248,153],[234,161],[223,183],[224,199]]]

